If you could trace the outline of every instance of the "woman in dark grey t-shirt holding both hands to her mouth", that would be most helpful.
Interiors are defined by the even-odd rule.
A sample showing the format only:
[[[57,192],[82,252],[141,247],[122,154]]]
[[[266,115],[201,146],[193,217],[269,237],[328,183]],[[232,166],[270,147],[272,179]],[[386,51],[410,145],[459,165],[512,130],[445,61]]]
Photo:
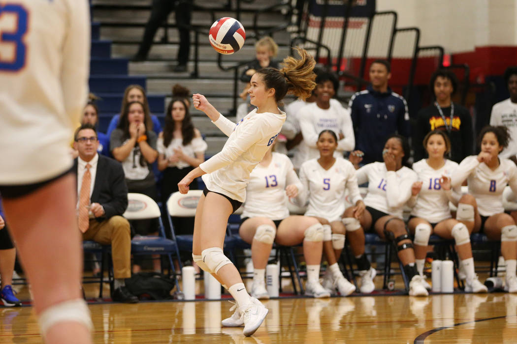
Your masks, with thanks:
[[[118,127],[110,138],[110,150],[113,157],[122,163],[129,192],[143,193],[155,201],[158,200],[155,176],[151,163],[158,158],[157,135],[151,128],[152,123],[146,107],[140,102],[129,102],[124,107]],[[158,220],[131,221],[136,234],[148,235],[158,233]],[[155,270],[160,270],[159,261],[155,259]],[[135,264],[133,272],[139,272]]]

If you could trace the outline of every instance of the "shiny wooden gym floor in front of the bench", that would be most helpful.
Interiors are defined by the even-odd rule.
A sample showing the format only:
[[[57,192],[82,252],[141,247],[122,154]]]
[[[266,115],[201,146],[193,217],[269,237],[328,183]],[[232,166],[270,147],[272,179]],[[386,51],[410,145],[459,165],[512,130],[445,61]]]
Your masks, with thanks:
[[[376,284],[381,280],[377,277]],[[96,286],[86,285],[88,298],[98,292]],[[29,299],[26,286],[15,287],[20,299]],[[517,342],[517,294],[415,298],[388,293],[264,303],[270,312],[253,337],[244,337],[241,328],[221,327],[221,319],[230,316],[228,301],[107,302],[89,309],[95,343]],[[41,342],[32,307],[0,306],[0,343]]]

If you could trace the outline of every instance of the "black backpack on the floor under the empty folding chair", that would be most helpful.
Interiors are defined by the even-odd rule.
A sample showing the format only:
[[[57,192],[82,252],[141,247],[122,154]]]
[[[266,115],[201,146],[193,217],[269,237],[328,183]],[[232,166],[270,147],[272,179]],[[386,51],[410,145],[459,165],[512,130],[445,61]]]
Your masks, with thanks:
[[[175,276],[159,272],[139,272],[126,279],[126,288],[140,300],[169,300],[176,286]]]

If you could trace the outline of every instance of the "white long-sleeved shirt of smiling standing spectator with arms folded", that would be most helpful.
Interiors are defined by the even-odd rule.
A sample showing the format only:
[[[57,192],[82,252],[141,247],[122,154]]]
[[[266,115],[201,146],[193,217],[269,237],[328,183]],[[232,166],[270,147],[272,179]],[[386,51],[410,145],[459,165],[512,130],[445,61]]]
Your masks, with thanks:
[[[301,163],[320,157],[316,142],[322,130],[332,130],[338,139],[339,133],[344,135],[344,138],[338,141],[334,157],[343,157],[344,151],[354,149],[355,137],[350,111],[339,102],[330,102],[328,109],[322,109],[316,103],[311,103],[299,110],[298,118],[303,135],[303,141],[299,144],[299,157],[297,157]]]

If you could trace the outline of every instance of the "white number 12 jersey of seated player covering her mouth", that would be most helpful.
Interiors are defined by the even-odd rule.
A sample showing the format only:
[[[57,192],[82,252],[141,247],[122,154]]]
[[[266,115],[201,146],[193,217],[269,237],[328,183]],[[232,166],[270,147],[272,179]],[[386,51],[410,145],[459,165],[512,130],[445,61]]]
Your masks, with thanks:
[[[398,171],[387,171],[384,162],[372,162],[357,170],[357,183],[368,182],[364,204],[401,219],[417,179],[415,171],[405,166]]]

